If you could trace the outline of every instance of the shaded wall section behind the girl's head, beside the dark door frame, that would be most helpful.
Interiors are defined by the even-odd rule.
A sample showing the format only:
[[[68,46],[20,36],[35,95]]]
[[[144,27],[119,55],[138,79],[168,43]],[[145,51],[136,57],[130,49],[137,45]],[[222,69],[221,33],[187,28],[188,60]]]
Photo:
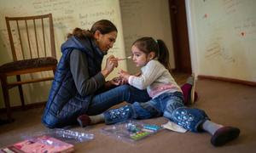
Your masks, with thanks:
[[[171,67],[175,68],[172,28],[168,0],[120,0],[125,37],[125,53],[131,54],[131,44],[139,37],[154,37],[166,42],[170,52]],[[128,70],[138,69],[128,61]]]

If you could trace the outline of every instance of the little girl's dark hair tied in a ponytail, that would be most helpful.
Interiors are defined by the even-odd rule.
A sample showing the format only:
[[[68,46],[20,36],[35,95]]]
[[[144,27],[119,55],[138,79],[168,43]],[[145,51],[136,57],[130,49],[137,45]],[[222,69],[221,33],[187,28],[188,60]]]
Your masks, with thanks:
[[[154,40],[152,37],[142,37],[133,42],[134,46],[140,49],[143,53],[149,54],[154,52],[155,56],[158,58],[160,63],[166,67],[168,71],[171,72],[171,65],[169,62],[169,51],[166,47],[166,43],[160,39]]]

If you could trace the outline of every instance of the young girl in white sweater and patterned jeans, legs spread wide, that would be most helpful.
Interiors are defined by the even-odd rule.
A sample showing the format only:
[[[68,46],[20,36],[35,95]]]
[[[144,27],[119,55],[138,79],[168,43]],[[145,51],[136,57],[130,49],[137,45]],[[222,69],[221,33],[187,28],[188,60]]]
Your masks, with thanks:
[[[128,119],[165,116],[191,132],[207,131],[212,134],[211,143],[214,146],[223,145],[239,136],[238,128],[211,122],[204,111],[184,106],[182,90],[169,72],[169,52],[163,41],[142,37],[133,43],[131,52],[134,63],[141,67],[141,75],[131,76],[126,71],[120,71],[119,76],[135,88],[147,88],[152,99],[146,103],[135,102],[119,109],[105,111],[97,116],[79,116],[78,121],[82,127],[97,122],[113,124]]]

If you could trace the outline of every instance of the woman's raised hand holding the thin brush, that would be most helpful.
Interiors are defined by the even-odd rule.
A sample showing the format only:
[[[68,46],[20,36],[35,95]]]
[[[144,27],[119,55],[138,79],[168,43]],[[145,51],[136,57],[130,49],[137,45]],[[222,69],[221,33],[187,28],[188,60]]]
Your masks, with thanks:
[[[106,61],[106,66],[102,70],[102,75],[104,77],[108,77],[108,75],[113,71],[115,67],[119,65],[118,59],[116,59],[113,55],[110,55]]]

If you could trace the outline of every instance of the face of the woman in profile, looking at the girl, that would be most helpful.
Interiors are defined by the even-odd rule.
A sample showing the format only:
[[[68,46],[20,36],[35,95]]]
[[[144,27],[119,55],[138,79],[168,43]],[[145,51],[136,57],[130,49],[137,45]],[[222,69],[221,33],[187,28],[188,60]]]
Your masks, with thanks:
[[[107,53],[109,48],[113,48],[113,43],[117,37],[117,31],[111,31],[106,34],[102,34],[100,31],[96,31],[95,38],[98,47],[103,53]]]

